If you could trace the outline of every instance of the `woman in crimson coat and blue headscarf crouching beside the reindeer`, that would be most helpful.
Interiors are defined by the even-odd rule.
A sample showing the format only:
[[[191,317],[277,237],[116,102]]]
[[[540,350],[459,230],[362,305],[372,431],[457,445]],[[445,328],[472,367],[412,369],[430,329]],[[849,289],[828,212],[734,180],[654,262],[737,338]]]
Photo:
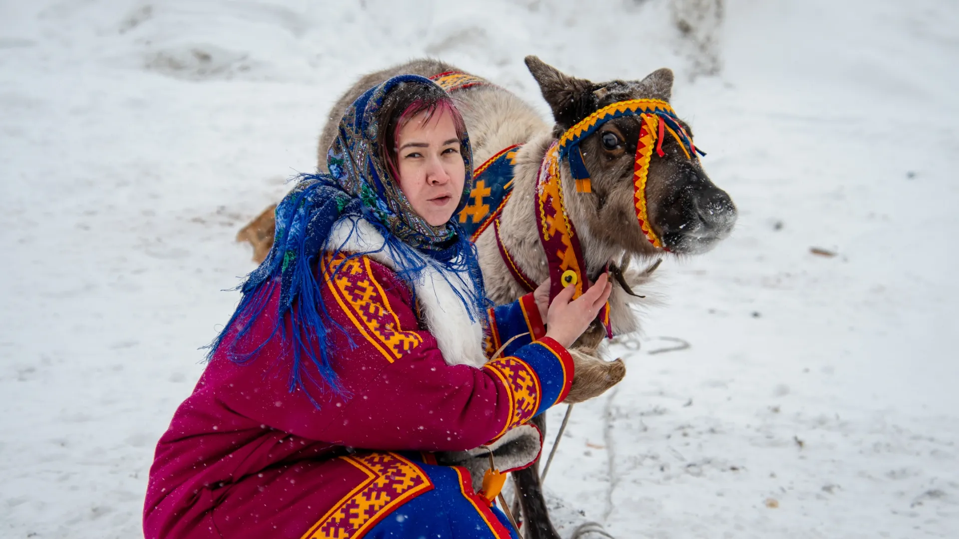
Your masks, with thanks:
[[[565,347],[606,277],[549,309],[530,294],[486,311],[475,247],[451,222],[469,141],[428,79],[363,94],[328,162],[277,207],[267,260],[157,445],[146,537],[515,537],[433,452],[503,439],[562,401]]]

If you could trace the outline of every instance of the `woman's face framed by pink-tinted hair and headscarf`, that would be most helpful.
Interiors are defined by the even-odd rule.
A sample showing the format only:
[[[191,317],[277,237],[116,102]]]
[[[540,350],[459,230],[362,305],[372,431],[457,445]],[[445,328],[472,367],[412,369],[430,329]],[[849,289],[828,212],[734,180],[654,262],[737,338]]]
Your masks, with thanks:
[[[448,110],[413,116],[396,132],[400,189],[413,210],[433,226],[450,221],[466,181],[459,136]]]

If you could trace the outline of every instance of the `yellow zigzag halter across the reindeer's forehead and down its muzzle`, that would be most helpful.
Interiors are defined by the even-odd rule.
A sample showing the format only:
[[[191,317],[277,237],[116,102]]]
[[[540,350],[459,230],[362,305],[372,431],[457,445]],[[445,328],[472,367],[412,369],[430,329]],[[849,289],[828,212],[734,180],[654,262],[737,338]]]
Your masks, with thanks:
[[[640,228],[643,229],[646,240],[653,246],[662,248],[663,243],[649,225],[649,218],[646,215],[646,177],[649,176],[649,159],[652,157],[653,148],[655,146],[656,153],[660,157],[666,154],[663,152],[663,140],[668,131],[679,143],[679,147],[686,153],[687,158],[695,158],[697,152],[700,155],[706,155],[692,144],[692,138],[680,125],[676,113],[667,102],[658,99],[632,99],[596,110],[563,133],[557,143],[558,157],[569,161],[570,172],[573,173],[573,179],[576,181],[576,191],[590,193],[592,191],[590,172],[586,169],[586,163],[583,162],[579,143],[606,122],[620,116],[635,115],[639,115],[641,119],[640,138],[636,144],[636,160],[633,167],[633,201],[636,206],[636,219],[640,222]]]

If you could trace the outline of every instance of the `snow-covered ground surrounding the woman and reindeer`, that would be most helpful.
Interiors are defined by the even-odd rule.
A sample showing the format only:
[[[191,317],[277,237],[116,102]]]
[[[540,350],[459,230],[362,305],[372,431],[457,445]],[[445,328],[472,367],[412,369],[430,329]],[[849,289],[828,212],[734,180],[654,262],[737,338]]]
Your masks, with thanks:
[[[526,54],[673,67],[740,210],[660,269],[548,486],[619,537],[959,536],[959,7],[732,0],[683,37],[668,0],[581,4],[0,2],[0,537],[141,535],[234,234],[347,84],[428,54],[544,113]]]

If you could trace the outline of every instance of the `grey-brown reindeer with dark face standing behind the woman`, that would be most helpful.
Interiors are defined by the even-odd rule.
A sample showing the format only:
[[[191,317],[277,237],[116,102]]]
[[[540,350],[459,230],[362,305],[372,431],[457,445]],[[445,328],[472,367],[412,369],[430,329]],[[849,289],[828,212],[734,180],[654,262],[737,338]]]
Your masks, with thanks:
[[[511,302],[528,292],[517,270],[521,277],[533,283],[556,276],[556,273],[550,276],[550,259],[538,228],[542,223],[534,211],[542,167],[550,152],[555,151],[554,145],[566,140],[564,134],[568,135],[571,128],[582,125],[591,115],[607,110],[610,105],[634,103],[633,100],[667,103],[673,83],[672,71],[665,68],[641,81],[597,83],[565,75],[534,56],[526,57],[526,66],[550,105],[552,126],[545,123],[532,106],[491,83],[475,83],[451,91],[470,133],[475,163],[486,161],[503,148],[522,145],[512,157],[513,188],[496,216],[499,227],[489,226],[476,238],[486,290],[497,304]],[[451,72],[462,74],[455,66],[442,61],[419,59],[361,78],[330,111],[330,121],[319,139],[319,169],[326,169],[326,151],[336,137],[337,120],[367,88],[404,73],[436,78]],[[620,286],[614,286],[608,312],[608,325],[615,334],[639,329],[637,313],[630,307],[638,296],[631,289],[647,281],[651,270],[658,265],[657,262],[646,270],[631,269],[630,261],[652,262],[666,252],[674,255],[706,252],[726,238],[736,222],[737,210],[732,199],[713,184],[695,156],[689,125],[674,116],[674,124],[666,125],[663,117],[660,118],[660,122],[650,123],[638,114],[626,114],[600,122],[577,141],[576,152],[581,161],[576,171],[571,169],[572,158],[554,161],[558,164],[558,182],[565,193],[566,213],[574,223],[581,246],[585,264],[582,277],[593,279],[604,269],[612,269],[617,276]],[[643,193],[645,219],[640,223],[636,199],[640,195],[634,189],[637,150],[643,140],[648,142],[649,129],[660,123],[672,136],[666,136],[661,127],[656,152],[647,156]],[[641,135],[646,139],[641,140]],[[686,142],[688,147],[684,146]],[[588,187],[581,183],[583,169],[589,174]],[[238,240],[243,239],[253,243],[254,258],[262,260],[272,242],[272,208],[241,231]],[[515,268],[510,269],[510,264]],[[565,278],[566,273],[563,275]],[[596,396],[616,385],[625,375],[621,360],[604,362],[598,357],[605,333],[603,324],[594,323],[573,345],[571,353],[580,381],[566,402]],[[534,418],[534,422],[545,434],[545,417]],[[526,537],[558,538],[550,524],[538,465],[514,472],[514,480],[526,521]]]

